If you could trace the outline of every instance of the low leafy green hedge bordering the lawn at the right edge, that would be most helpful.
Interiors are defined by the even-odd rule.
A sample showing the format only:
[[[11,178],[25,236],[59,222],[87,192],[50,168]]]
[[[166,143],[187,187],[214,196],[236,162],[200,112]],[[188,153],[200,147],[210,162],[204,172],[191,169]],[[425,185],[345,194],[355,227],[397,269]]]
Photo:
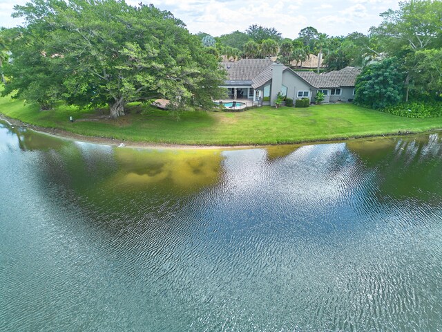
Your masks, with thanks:
[[[442,116],[442,102],[402,102],[381,111],[406,118],[436,118]]]

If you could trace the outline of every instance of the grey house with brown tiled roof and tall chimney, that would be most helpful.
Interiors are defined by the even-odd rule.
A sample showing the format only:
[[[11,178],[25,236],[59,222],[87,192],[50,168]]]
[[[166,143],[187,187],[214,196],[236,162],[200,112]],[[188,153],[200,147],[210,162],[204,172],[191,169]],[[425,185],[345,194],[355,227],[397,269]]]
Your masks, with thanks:
[[[321,91],[325,95],[324,102],[338,100],[336,96],[340,97],[343,89],[334,80],[338,81],[338,77],[347,73],[334,75],[329,79],[326,75],[313,72],[293,71],[271,59],[240,59],[238,62],[222,62],[221,66],[228,75],[222,87],[228,89],[233,100],[247,98],[253,102],[272,106],[278,93],[294,100],[309,98],[311,102],[314,101],[316,93]],[[353,75],[356,72],[349,71],[349,73]],[[349,89],[349,86],[345,86],[345,89]]]

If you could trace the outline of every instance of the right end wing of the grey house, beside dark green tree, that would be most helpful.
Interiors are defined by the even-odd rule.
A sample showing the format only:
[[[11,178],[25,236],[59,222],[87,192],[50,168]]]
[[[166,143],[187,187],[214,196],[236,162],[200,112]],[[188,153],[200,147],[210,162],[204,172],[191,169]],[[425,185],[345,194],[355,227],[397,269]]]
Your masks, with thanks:
[[[326,80],[339,86],[338,90],[330,91],[330,102],[343,101],[348,102],[354,99],[354,84],[356,77],[361,73],[361,68],[345,67],[340,71],[331,71],[323,73]]]

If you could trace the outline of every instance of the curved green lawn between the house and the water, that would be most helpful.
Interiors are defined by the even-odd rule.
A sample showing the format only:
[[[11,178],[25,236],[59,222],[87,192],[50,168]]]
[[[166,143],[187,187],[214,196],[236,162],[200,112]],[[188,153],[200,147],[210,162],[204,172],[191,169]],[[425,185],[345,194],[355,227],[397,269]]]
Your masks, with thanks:
[[[187,145],[266,145],[442,128],[442,118],[401,118],[353,104],[324,104],[307,109],[260,107],[239,113],[189,111],[180,112],[179,120],[167,111],[145,107],[142,113],[134,109],[118,120],[71,123],[69,116],[80,120],[95,113],[66,106],[39,111],[37,107],[23,106],[19,100],[0,98],[0,113],[86,136]]]

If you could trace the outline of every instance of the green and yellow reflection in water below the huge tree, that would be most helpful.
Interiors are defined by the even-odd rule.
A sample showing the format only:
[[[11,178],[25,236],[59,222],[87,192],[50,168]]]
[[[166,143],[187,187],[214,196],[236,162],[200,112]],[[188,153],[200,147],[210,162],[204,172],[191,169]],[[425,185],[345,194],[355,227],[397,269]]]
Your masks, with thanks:
[[[42,184],[58,185],[90,219],[118,223],[160,218],[218,183],[218,150],[121,149],[63,141],[40,151],[35,175]],[[155,214],[155,216],[153,216]],[[111,223],[108,223],[111,225]]]

